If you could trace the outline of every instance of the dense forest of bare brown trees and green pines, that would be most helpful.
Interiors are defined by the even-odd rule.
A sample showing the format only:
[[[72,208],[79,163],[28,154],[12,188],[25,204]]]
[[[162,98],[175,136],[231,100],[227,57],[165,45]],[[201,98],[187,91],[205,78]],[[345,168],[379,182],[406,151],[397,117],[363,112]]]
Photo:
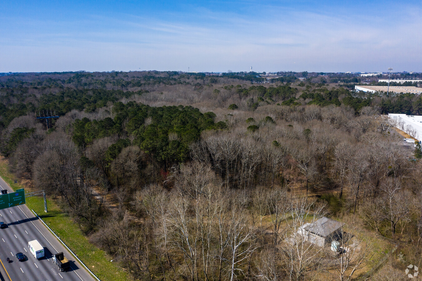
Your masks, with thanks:
[[[371,280],[406,280],[422,265],[421,151],[385,114],[422,115],[421,97],[277,76],[0,76],[0,152],[135,280],[360,280],[384,257]],[[323,217],[347,250],[301,239]]]

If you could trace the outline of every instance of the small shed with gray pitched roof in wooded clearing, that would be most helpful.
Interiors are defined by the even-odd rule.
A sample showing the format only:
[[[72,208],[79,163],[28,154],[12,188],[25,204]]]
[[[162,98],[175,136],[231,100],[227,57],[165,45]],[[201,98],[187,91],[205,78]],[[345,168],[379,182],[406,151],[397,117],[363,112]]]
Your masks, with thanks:
[[[344,223],[323,216],[313,223],[303,224],[300,232],[309,242],[324,247],[341,238],[343,225]]]

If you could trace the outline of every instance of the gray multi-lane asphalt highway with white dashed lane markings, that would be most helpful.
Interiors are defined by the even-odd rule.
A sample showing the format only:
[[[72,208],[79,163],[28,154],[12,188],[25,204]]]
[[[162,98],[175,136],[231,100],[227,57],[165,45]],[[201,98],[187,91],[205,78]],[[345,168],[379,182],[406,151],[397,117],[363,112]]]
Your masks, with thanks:
[[[12,189],[0,177],[1,189]],[[81,266],[64,246],[49,232],[42,222],[26,205],[0,210],[0,222],[8,224],[0,229],[0,280],[5,281],[94,281],[95,279]],[[35,259],[28,249],[32,240],[44,247],[45,257]],[[26,259],[19,262],[16,253],[22,252]],[[67,272],[60,272],[52,261],[52,254],[63,252],[70,260]],[[7,257],[11,262],[7,262]]]

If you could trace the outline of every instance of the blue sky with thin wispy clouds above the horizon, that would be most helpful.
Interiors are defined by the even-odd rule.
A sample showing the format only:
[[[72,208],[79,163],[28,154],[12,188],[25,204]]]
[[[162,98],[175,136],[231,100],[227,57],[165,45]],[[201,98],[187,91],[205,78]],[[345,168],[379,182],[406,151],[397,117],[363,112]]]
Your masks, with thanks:
[[[1,1],[0,72],[418,71],[422,1]]]

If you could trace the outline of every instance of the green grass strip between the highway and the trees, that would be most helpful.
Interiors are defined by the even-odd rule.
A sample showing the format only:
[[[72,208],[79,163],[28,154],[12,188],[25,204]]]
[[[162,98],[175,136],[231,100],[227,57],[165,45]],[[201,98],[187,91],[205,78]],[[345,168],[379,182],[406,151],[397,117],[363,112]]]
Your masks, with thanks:
[[[14,183],[14,176],[8,172],[7,163],[3,159],[0,160],[0,176],[14,190],[23,187],[18,183]],[[89,243],[76,222],[61,211],[54,201],[47,198],[48,213],[44,212],[43,197],[29,197],[26,199],[26,205],[38,213],[43,221],[100,280],[130,280],[125,271],[117,266],[116,263],[110,262],[113,257]]]

